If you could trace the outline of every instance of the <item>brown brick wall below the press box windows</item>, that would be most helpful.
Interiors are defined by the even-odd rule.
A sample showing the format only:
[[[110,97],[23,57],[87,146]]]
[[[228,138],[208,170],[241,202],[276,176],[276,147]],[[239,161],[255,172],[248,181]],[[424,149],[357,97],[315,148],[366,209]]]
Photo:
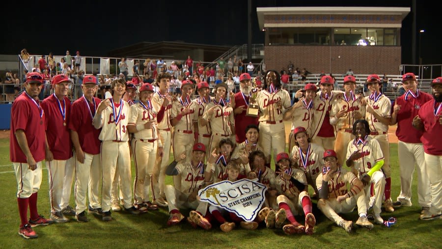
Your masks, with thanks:
[[[267,69],[280,71],[289,61],[295,68],[311,73],[400,74],[401,47],[398,46],[265,46]],[[340,57],[340,58],[339,58]]]

